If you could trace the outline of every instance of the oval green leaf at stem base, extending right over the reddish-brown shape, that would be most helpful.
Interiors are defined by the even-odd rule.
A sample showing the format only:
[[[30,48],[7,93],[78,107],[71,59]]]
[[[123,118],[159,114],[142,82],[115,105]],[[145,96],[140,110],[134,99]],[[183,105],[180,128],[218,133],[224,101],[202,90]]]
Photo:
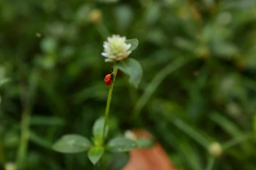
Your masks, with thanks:
[[[137,144],[131,139],[116,137],[108,142],[106,148],[111,152],[127,152],[137,148]]]

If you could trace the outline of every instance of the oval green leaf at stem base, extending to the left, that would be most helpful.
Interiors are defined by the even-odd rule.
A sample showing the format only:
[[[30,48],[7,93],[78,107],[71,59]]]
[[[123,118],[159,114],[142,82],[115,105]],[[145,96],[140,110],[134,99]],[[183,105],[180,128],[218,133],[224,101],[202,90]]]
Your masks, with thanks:
[[[64,135],[55,144],[52,149],[61,153],[80,153],[88,150],[92,146],[89,139],[77,134]]]

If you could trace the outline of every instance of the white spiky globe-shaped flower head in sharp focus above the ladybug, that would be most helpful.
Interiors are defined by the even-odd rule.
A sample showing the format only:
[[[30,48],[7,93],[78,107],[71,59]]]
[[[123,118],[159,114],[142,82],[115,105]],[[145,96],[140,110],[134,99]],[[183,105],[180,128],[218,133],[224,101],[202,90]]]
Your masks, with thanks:
[[[119,35],[112,35],[108,37],[107,41],[103,42],[104,52],[102,56],[106,57],[105,62],[115,62],[118,60],[126,59],[131,51],[131,44],[126,44],[126,37],[120,37]]]

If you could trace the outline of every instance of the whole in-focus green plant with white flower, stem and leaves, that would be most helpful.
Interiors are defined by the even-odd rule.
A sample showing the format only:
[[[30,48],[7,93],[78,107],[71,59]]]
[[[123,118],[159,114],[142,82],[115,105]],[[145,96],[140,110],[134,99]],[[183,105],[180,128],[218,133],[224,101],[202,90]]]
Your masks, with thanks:
[[[125,45],[127,44],[129,48],[127,49],[129,50],[128,51],[129,54],[126,55],[125,53],[127,53],[127,50],[124,50],[122,53],[122,48],[124,47],[122,47],[122,42],[119,42],[122,40],[119,40],[120,39],[119,36],[117,37],[115,36],[116,35],[113,35],[111,40],[109,40],[111,37],[108,37],[109,41],[104,42],[105,44],[103,45],[105,49],[107,49],[105,50],[105,57],[107,57],[107,59],[105,59],[106,62],[114,62],[113,83],[111,83],[109,88],[108,100],[107,100],[107,105],[105,109],[105,117],[100,117],[99,119],[96,120],[96,122],[93,125],[93,128],[92,128],[93,137],[91,138],[92,141],[90,141],[87,137],[81,136],[78,134],[67,134],[62,136],[61,139],[55,142],[55,144],[52,147],[55,151],[58,151],[61,153],[81,153],[84,151],[88,151],[88,157],[93,164],[96,164],[100,159],[102,159],[101,161],[102,170],[105,169],[104,153],[106,151],[110,151],[112,153],[120,153],[120,152],[127,152],[130,150],[133,150],[137,147],[147,147],[151,145],[151,142],[150,142],[151,139],[140,139],[140,140],[135,139],[134,140],[134,139],[129,139],[125,136],[114,137],[108,140],[108,142],[106,142],[105,140],[108,136],[108,115],[109,115],[113,85],[115,82],[117,70],[119,69],[123,71],[125,74],[128,74],[130,77],[130,83],[134,85],[136,88],[140,83],[140,79],[143,74],[143,71],[139,62],[137,62],[135,59],[126,59],[126,57],[128,57],[131,51],[137,48],[138,40],[131,39],[131,40],[125,41],[126,42]],[[115,38],[117,42],[113,42],[115,41],[113,40]],[[111,46],[111,43],[113,43],[112,46]],[[121,46],[119,47],[120,43],[121,43]],[[108,47],[106,45],[108,45]],[[110,51],[109,48],[113,48],[111,49],[112,51]],[[120,48],[121,48],[121,52],[120,52]],[[125,55],[125,57],[122,57],[122,55]],[[118,57],[121,57],[121,59]]]

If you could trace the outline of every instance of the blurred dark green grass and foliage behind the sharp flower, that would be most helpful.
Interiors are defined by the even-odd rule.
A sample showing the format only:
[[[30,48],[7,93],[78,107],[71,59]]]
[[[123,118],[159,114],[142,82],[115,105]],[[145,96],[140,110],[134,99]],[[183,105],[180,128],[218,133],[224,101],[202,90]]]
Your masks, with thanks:
[[[26,170],[96,168],[51,145],[90,137],[104,114],[113,65],[100,53],[112,34],[139,40],[130,57],[143,79],[135,89],[118,72],[109,138],[144,128],[179,170],[256,169],[255,0],[0,0],[2,169],[17,158]]]

